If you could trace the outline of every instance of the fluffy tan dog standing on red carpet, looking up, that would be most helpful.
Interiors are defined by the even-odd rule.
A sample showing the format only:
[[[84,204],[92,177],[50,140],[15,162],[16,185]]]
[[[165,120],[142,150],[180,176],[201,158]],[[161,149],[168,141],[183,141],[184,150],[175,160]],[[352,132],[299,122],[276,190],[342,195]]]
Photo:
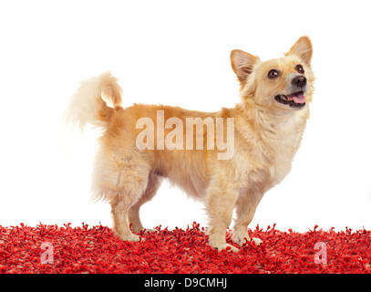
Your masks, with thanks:
[[[124,109],[118,79],[109,72],[82,81],[66,121],[103,130],[92,193],[110,204],[119,238],[139,241],[140,206],[166,178],[205,203],[212,247],[239,250],[226,243],[234,209],[232,242],[261,244],[249,237],[248,225],[263,194],[290,172],[302,141],[314,92],[312,55],[308,36],[267,61],[232,50],[241,101],[218,112],[143,104]]]

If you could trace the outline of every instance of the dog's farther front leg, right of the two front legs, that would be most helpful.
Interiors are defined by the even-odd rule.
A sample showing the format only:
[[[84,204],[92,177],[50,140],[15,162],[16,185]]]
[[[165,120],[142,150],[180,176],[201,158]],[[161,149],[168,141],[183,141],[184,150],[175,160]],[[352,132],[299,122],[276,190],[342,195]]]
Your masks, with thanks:
[[[246,241],[251,241],[247,232],[247,226],[252,222],[253,215],[260,203],[263,194],[250,193],[241,195],[236,203],[237,218],[233,226],[232,241],[237,245],[243,245]],[[263,241],[260,238],[252,238],[255,245],[260,245]]]

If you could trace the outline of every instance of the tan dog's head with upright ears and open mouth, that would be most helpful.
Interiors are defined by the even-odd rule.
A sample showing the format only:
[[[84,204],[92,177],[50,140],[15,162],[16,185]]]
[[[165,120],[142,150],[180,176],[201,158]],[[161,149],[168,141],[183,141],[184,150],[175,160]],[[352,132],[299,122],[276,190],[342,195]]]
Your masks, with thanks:
[[[312,43],[302,36],[283,57],[261,61],[232,50],[232,68],[241,84],[242,101],[275,110],[301,110],[311,101],[314,73]]]

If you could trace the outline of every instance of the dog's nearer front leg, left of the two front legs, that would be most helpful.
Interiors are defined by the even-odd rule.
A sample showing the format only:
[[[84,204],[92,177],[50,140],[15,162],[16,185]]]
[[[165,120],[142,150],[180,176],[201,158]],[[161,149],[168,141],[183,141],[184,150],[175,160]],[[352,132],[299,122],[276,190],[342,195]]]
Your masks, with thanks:
[[[234,204],[238,193],[223,180],[211,183],[207,190],[207,213],[209,215],[209,244],[218,250],[231,247],[233,252],[238,248],[228,245],[225,240],[226,230],[232,221]]]

